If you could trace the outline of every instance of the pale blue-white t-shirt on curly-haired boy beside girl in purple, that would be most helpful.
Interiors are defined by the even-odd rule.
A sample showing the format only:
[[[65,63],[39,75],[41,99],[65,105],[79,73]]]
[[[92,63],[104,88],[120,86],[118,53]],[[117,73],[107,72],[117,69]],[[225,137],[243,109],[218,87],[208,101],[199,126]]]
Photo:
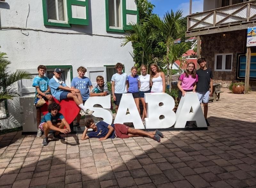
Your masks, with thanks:
[[[114,74],[111,78],[111,81],[115,82],[115,93],[127,93],[126,90],[126,81],[127,81],[127,74]]]

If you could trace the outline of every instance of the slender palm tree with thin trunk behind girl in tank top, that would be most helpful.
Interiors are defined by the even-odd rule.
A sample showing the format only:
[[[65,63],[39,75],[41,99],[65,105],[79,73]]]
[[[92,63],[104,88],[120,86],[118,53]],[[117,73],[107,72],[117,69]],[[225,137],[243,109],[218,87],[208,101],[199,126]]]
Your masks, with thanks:
[[[180,46],[174,50],[175,46],[173,45],[173,41],[178,38],[181,32],[184,32],[181,18],[182,18],[182,11],[179,10],[174,13],[171,10],[171,13],[169,13],[169,11],[165,13],[163,20],[161,20],[159,17],[152,17],[149,19],[149,21],[153,25],[155,25],[159,29],[159,31],[162,33],[166,43],[167,85],[169,86],[170,86],[170,74],[172,74],[172,72],[170,72],[170,64],[174,63],[174,61],[171,61],[169,57],[173,56],[174,52],[177,53],[176,50],[181,49],[181,46]],[[182,45],[182,47],[185,47],[185,45]],[[169,52],[170,48],[173,48],[173,52],[171,54]],[[181,54],[181,52],[178,54]],[[173,57],[178,57],[179,56],[178,54],[174,55]],[[170,91],[171,91],[171,87],[170,87]]]

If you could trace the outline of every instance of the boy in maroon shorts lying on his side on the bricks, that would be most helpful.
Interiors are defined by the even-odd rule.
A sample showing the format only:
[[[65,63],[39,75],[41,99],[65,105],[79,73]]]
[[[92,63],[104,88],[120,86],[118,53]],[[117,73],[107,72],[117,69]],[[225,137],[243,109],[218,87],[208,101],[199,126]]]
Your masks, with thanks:
[[[86,135],[87,130],[91,128],[92,132]],[[154,132],[146,132],[140,129],[133,129],[124,124],[112,124],[108,125],[108,123],[104,121],[100,121],[97,124],[94,123],[92,119],[87,119],[85,122],[85,130],[82,135],[82,140],[86,140],[89,138],[99,138],[99,141],[106,140],[108,138],[129,138],[135,136],[148,136],[153,140],[160,142],[160,137],[163,138],[163,133],[158,130]]]

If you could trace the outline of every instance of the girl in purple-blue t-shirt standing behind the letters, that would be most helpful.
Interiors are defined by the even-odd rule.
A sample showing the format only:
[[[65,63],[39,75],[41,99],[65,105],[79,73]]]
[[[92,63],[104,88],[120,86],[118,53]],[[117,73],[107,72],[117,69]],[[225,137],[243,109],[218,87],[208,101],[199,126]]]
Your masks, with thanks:
[[[139,98],[139,75],[137,75],[138,68],[133,66],[131,69],[132,74],[127,77],[128,92],[132,93],[137,109],[140,113],[140,98]]]

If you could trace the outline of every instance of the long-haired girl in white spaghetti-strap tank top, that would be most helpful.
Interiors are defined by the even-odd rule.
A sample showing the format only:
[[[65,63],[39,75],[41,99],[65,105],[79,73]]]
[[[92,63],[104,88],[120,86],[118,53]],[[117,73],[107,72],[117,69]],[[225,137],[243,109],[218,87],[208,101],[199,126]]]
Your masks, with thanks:
[[[152,85],[151,92],[165,92],[165,75],[163,72],[160,72],[159,67],[152,63],[150,65],[150,83]]]

